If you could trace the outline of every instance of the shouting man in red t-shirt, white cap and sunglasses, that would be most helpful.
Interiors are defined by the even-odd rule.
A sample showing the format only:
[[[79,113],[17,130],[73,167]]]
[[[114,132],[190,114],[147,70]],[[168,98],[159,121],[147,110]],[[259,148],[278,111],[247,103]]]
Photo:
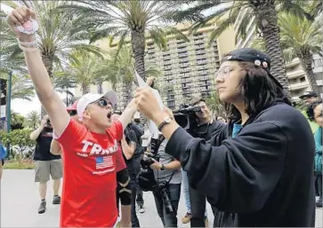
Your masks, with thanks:
[[[111,122],[115,92],[88,93],[78,100],[77,114],[83,124],[71,119],[61,98],[53,90],[50,77],[36,45],[36,30],[20,32],[36,13],[26,6],[12,10],[7,22],[17,35],[37,96],[52,122],[62,147],[64,181],[61,221],[64,227],[112,227],[117,224],[116,152],[117,141],[137,108],[134,100],[117,122]]]

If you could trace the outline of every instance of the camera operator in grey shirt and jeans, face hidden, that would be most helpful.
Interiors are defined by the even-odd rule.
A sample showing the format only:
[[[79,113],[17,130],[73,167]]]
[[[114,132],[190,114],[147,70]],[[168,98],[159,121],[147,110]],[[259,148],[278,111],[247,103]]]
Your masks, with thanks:
[[[165,152],[166,144],[167,140],[164,138],[157,151],[159,161],[152,159],[154,163],[150,165],[150,168],[154,169],[157,181],[153,194],[157,213],[164,227],[177,227],[177,209],[182,184],[181,163]],[[163,197],[163,193],[167,196]]]

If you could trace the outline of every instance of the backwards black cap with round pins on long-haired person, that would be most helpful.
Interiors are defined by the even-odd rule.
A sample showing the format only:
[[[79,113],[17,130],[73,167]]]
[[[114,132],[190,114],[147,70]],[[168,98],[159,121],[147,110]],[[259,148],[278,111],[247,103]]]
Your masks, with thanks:
[[[271,77],[271,80],[273,80],[274,83],[279,86],[279,88],[283,89],[279,81],[277,81],[276,78],[271,75],[271,58],[266,53],[255,50],[253,48],[241,48],[230,51],[228,56],[223,59],[223,61],[228,60],[251,62],[256,66],[262,67]]]

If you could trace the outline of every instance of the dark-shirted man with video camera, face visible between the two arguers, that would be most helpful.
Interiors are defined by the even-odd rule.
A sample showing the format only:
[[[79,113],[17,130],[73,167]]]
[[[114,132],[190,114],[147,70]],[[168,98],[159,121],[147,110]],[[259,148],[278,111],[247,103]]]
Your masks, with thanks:
[[[187,132],[194,138],[204,138],[209,140],[213,134],[219,132],[225,127],[222,122],[214,121],[211,111],[206,105],[204,98],[195,98],[190,102],[190,106],[199,107],[198,112],[193,114],[196,124],[190,126]],[[199,193],[197,190],[190,187],[190,175],[182,171],[183,192],[189,193],[190,197],[186,196],[186,205],[188,211],[182,218],[182,222],[189,222],[191,227],[207,227],[208,219],[206,212],[206,195]],[[189,189],[187,187],[189,186]],[[189,201],[190,200],[190,201]],[[189,207],[188,207],[189,206]],[[214,210],[215,208],[213,208]],[[214,215],[215,216],[215,215]]]

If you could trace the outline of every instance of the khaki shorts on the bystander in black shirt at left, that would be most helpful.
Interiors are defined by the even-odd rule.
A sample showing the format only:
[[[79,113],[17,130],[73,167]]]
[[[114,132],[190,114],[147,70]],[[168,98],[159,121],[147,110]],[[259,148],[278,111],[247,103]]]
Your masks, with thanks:
[[[63,166],[61,159],[52,161],[36,161],[35,182],[46,183],[50,176],[53,180],[63,177]]]

